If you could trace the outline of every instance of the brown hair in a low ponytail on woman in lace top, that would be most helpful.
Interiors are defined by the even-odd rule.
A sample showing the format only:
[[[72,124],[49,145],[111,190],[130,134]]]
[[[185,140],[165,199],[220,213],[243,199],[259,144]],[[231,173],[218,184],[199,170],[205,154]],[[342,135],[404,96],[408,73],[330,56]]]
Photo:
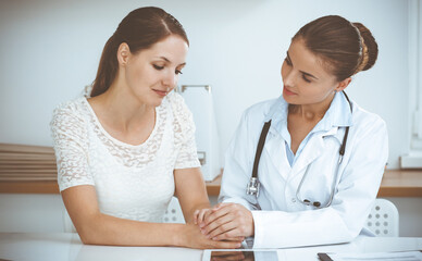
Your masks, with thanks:
[[[164,10],[150,7],[128,13],[105,42],[90,96],[103,94],[113,83],[119,70],[116,53],[122,42],[126,42],[131,52],[136,53],[173,34],[181,36],[189,45],[181,23]]]

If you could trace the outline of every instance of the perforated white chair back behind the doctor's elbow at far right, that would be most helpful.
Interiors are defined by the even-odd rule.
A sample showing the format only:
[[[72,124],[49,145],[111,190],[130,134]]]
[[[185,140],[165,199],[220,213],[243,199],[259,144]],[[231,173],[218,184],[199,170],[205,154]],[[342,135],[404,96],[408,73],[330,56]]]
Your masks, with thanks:
[[[397,237],[398,217],[398,210],[392,201],[377,198],[368,216],[365,227],[380,237]]]

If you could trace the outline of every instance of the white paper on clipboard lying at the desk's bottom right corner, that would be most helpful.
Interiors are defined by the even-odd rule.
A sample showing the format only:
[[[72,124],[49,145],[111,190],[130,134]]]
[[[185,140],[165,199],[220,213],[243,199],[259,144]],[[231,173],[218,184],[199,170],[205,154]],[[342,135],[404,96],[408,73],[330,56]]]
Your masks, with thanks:
[[[323,261],[422,261],[421,251],[375,252],[375,253],[326,253]],[[328,257],[328,259],[326,259]]]

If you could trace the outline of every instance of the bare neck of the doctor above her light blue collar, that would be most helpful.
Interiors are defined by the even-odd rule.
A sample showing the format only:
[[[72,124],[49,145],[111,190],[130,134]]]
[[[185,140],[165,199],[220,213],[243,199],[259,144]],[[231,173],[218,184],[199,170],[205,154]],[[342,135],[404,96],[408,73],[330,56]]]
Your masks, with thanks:
[[[334,99],[334,95],[331,95],[326,99],[318,103],[311,104],[289,104],[289,114],[296,114],[306,121],[320,121],[325,112],[328,110],[331,102]]]

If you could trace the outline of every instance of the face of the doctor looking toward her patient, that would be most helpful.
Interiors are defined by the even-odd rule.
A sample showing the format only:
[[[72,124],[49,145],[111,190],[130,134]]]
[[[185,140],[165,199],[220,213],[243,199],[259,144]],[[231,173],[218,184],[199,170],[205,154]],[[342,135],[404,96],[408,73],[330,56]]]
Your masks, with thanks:
[[[283,98],[287,103],[316,104],[333,99],[339,83],[327,66],[302,39],[291,41],[282,65]]]

